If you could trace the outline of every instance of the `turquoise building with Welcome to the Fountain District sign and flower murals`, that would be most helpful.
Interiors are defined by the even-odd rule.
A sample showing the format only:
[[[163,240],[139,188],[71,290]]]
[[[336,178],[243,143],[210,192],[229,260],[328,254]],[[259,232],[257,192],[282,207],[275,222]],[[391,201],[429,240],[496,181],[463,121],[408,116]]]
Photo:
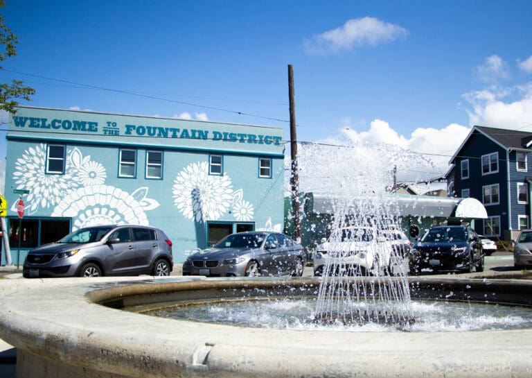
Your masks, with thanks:
[[[159,227],[176,262],[231,232],[284,228],[282,128],[20,107],[6,138],[14,264],[86,225]]]

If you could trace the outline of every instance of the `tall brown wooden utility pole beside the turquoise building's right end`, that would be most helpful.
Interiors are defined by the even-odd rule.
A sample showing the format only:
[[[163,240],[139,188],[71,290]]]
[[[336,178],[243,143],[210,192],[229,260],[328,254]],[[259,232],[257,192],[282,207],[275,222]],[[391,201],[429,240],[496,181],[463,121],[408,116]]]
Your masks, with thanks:
[[[292,216],[294,220],[294,239],[301,243],[301,222],[299,220],[299,175],[297,173],[297,135],[296,135],[296,105],[294,101],[294,69],[288,65],[288,98],[290,101],[290,153],[292,157]]]

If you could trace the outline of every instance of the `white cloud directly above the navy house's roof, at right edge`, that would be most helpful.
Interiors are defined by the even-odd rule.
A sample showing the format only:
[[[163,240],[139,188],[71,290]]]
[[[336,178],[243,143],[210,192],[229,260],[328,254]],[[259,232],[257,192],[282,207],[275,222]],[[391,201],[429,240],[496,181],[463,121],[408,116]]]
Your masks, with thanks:
[[[471,125],[522,129],[532,126],[532,83],[511,88],[492,87],[463,94],[470,104]]]

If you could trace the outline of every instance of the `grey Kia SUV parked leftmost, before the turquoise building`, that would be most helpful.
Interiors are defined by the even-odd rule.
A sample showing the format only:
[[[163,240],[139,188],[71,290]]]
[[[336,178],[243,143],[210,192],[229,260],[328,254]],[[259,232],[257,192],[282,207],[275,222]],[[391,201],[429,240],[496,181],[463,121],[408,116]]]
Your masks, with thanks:
[[[139,225],[98,225],[30,250],[23,275],[170,275],[172,266],[172,241],[163,231]]]

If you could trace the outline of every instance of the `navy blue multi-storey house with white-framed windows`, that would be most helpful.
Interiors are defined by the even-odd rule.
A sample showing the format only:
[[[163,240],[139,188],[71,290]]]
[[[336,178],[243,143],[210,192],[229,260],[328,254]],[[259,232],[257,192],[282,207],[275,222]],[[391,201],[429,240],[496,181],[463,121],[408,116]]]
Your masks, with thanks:
[[[479,234],[511,240],[530,227],[531,146],[530,132],[475,126],[454,153],[448,193],[484,204],[488,218],[475,224]]]

